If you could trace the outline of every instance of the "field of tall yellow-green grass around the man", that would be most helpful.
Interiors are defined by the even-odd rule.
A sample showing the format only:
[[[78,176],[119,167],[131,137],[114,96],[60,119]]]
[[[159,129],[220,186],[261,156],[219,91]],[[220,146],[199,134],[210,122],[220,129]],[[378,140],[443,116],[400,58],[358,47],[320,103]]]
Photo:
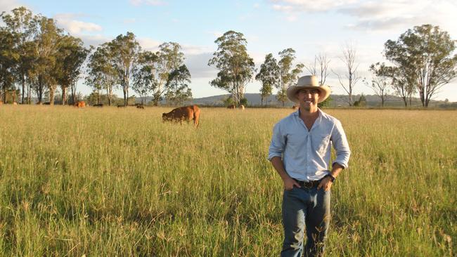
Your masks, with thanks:
[[[0,107],[0,256],[278,256],[285,109]],[[456,256],[457,112],[328,110],[352,157],[327,256]]]

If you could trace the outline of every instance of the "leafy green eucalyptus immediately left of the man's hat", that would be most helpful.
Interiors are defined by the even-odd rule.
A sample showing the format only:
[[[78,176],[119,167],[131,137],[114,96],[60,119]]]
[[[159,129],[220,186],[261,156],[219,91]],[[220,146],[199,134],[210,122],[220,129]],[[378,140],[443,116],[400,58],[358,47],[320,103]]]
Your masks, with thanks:
[[[283,103],[287,102],[287,88],[292,86],[296,83],[298,79],[298,75],[302,72],[304,65],[302,63],[298,63],[293,67],[293,61],[295,60],[295,50],[292,48],[284,49],[283,51],[278,53],[280,56],[280,60],[278,62],[279,71],[280,71],[280,83],[278,84],[278,95],[276,98],[278,101]]]

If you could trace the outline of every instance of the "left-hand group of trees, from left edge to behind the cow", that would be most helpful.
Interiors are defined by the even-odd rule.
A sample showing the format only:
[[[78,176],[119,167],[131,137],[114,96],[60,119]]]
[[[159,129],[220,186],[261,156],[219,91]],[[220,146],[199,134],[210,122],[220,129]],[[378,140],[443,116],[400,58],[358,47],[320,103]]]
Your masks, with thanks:
[[[4,22],[0,27],[0,88],[5,103],[7,97],[16,102],[20,95],[20,103],[30,104],[33,93],[42,103],[47,93],[53,105],[60,87],[61,103],[70,100],[73,104],[83,74],[98,102],[105,91],[109,105],[117,88],[124,93],[124,105],[129,89],[143,102],[152,93],[155,105],[162,97],[175,104],[192,98],[191,73],[177,43],[161,44],[156,52],[143,51],[135,35],[127,32],[97,48],[86,48],[81,39],[58,28],[55,20],[34,15],[25,7],[3,12],[0,18]]]

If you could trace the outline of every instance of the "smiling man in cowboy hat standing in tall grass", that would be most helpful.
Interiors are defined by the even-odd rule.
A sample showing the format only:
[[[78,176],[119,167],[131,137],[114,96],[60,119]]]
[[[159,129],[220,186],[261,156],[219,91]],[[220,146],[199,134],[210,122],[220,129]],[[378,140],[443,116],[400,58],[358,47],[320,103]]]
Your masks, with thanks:
[[[330,187],[347,168],[351,152],[340,121],[317,107],[330,95],[328,86],[304,76],[287,95],[299,109],[274,126],[268,157],[284,183],[281,256],[321,256],[330,219]],[[330,170],[331,145],[336,159]]]

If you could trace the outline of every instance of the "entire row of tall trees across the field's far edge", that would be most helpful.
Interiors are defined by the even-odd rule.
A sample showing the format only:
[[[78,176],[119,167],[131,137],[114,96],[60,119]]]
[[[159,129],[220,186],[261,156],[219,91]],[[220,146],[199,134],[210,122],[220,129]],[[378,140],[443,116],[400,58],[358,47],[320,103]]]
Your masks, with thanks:
[[[3,12],[0,18],[4,22],[0,27],[0,88],[4,102],[8,95],[12,101],[20,95],[21,103],[30,103],[35,93],[41,103],[44,93],[48,93],[53,105],[56,89],[60,87],[61,103],[65,105],[67,100],[75,103],[77,81],[83,74],[85,84],[94,90],[91,95],[96,95],[97,103],[105,95],[111,105],[117,88],[122,89],[124,105],[129,100],[130,89],[141,97],[143,104],[148,95],[152,95],[153,105],[163,98],[175,105],[192,98],[191,73],[184,65],[184,53],[178,43],[166,42],[158,51],[143,51],[135,35],[127,32],[98,47],[85,48],[81,39],[58,28],[53,19],[33,15],[25,7]],[[309,65],[295,64],[295,50],[286,48],[278,53],[278,60],[272,53],[267,54],[257,71],[242,33],[230,30],[214,43],[218,48],[207,65],[218,72],[210,86],[227,91],[231,104],[247,104],[245,88],[253,79],[262,85],[262,105],[273,88],[277,90],[277,100],[285,105],[287,88],[295,84],[304,69],[318,77],[320,84],[326,83],[330,73],[330,58],[325,53],[315,55],[314,63]],[[455,41],[447,32],[437,26],[421,25],[408,29],[397,41],[385,42],[383,55],[387,63],[371,65],[371,79],[359,75],[356,48],[350,44],[342,48],[340,58],[346,71],[330,71],[349,96],[349,106],[360,103],[360,100],[354,102],[352,94],[354,87],[363,81],[379,95],[382,105],[393,91],[401,96],[405,106],[411,105],[411,98],[418,93],[427,107],[439,88],[457,75],[455,49]]]

